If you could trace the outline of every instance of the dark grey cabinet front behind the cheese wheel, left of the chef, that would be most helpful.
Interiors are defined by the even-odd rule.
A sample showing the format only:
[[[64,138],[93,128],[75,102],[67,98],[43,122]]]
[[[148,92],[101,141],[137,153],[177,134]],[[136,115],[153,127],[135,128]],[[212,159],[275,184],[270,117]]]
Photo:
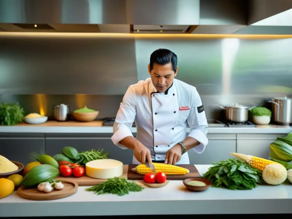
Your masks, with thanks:
[[[109,153],[109,159],[121,161],[123,164],[132,164],[133,150],[123,150],[111,140],[112,134],[46,134],[45,149],[46,154],[61,154],[63,147],[70,146],[76,148],[79,152],[90,149],[102,149]],[[135,136],[134,136],[135,137]]]

